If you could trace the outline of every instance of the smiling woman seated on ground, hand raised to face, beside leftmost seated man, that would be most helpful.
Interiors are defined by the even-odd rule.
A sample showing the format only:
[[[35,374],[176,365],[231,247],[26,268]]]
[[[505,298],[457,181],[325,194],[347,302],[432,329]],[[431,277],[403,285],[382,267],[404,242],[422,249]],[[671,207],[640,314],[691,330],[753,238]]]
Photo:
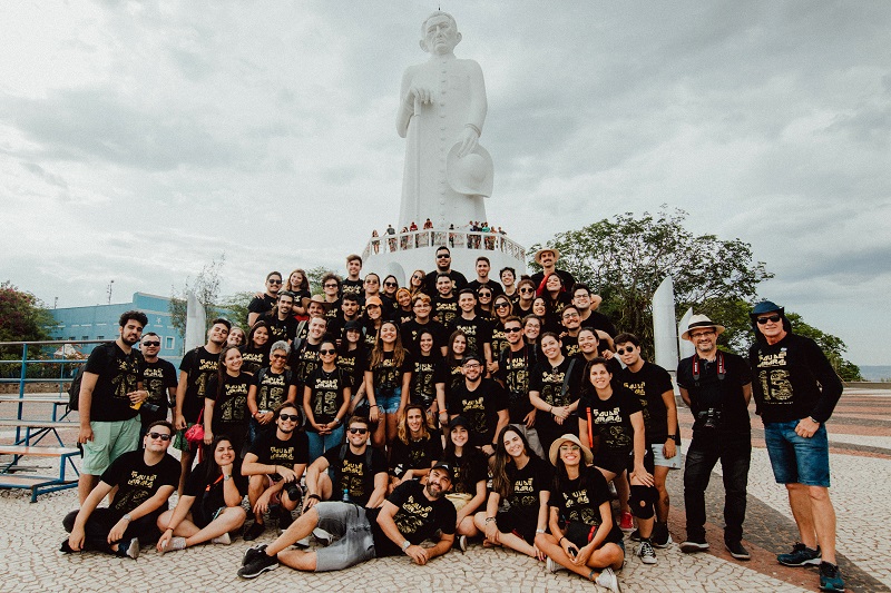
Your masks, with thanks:
[[[161,554],[205,542],[228,545],[229,533],[247,518],[242,506],[247,483],[233,472],[238,452],[226,435],[214,437],[209,449],[212,454],[186,480],[176,507],[158,517]]]

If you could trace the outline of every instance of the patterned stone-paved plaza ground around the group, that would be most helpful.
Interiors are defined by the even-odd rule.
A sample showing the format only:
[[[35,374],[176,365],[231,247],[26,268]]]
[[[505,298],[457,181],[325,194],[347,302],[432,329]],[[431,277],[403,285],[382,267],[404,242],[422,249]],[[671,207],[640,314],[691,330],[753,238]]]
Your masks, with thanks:
[[[12,404],[0,408],[8,416]],[[679,406],[682,435],[691,436],[692,417]],[[731,559],[723,545],[721,467],[712,476],[708,504],[708,553],[685,555],[677,543],[684,538],[682,472],[669,475],[673,511],[669,528],[675,544],[657,550],[658,564],[643,565],[628,554],[619,580],[625,592],[724,592],[816,591],[817,571],[787,569],[775,555],[796,540],[785,490],[773,481],[764,448],[761,421],[753,419],[754,451],[748,474],[748,511],[744,544],[750,562]],[[849,389],[829,423],[832,490],[839,520],[839,563],[848,591],[891,591],[891,394]],[[8,443],[10,433],[0,434]],[[71,434],[62,434],[67,443]],[[46,462],[33,462],[36,465]],[[77,507],[75,490],[41,495],[29,503],[27,491],[0,491],[0,574],[3,591],[266,591],[297,587],[303,591],[576,591],[591,590],[566,572],[548,574],[544,563],[502,550],[483,550],[473,543],[466,554],[458,551],[413,566],[408,557],[375,560],[351,570],[326,574],[302,574],[288,569],[243,581],[235,575],[248,546],[241,537],[229,546],[198,546],[165,556],[144,546],[137,561],[90,553],[63,555],[66,537],[61,518]],[[271,541],[266,532],[260,543]],[[627,542],[627,540],[626,540]],[[633,544],[629,544],[629,551]]]

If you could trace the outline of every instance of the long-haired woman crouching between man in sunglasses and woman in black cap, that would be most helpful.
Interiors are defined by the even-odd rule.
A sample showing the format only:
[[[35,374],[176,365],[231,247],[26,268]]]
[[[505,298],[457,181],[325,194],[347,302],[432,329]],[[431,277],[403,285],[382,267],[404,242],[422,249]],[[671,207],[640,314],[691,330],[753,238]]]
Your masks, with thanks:
[[[442,439],[433,431],[433,423],[424,406],[405,406],[405,412],[399,417],[399,428],[390,453],[388,494],[409,480],[427,483],[430,468],[442,457]]]

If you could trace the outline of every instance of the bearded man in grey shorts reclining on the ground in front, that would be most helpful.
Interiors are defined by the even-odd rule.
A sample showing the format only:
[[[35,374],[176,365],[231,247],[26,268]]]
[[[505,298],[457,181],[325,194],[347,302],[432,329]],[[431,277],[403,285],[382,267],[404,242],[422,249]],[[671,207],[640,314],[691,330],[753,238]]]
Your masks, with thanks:
[[[280,562],[298,571],[324,572],[399,554],[405,554],[423,566],[452,546],[456,512],[444,497],[451,485],[451,467],[438,464],[430,471],[427,485],[413,480],[401,484],[380,508],[340,502],[319,503],[270,545],[249,548],[238,576],[253,579],[277,569]],[[287,550],[320,527],[337,540],[312,552]],[[424,540],[435,537],[437,533],[435,545],[420,545]]]

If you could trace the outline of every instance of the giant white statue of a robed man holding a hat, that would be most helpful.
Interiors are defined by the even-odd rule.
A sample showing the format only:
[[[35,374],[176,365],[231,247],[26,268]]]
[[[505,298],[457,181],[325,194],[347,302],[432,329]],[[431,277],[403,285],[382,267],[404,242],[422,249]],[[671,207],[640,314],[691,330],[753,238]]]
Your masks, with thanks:
[[[402,76],[396,130],[405,142],[400,226],[428,217],[439,228],[486,220],[492,159],[479,146],[486,120],[480,65],[454,57],[461,33],[451,14],[434,12],[421,26],[423,63]]]

